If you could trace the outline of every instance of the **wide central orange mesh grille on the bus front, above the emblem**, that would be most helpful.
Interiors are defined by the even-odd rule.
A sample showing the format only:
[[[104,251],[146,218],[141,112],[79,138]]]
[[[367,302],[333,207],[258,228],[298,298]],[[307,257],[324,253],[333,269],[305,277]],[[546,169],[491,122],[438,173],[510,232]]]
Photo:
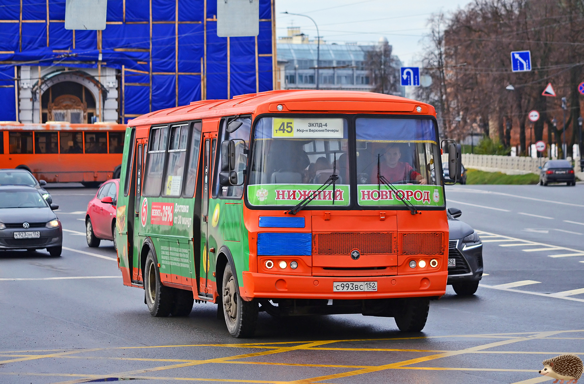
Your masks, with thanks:
[[[312,235],[312,254],[389,254],[397,250],[395,233],[391,232],[330,232]]]

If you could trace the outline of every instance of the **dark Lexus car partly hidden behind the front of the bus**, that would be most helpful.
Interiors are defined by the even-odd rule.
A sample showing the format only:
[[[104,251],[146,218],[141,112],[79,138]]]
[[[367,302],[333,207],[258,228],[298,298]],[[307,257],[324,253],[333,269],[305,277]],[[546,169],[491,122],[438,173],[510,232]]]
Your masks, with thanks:
[[[448,208],[449,252],[448,281],[457,295],[468,296],[477,292],[482,278],[482,242],[477,231],[457,219],[463,212]]]

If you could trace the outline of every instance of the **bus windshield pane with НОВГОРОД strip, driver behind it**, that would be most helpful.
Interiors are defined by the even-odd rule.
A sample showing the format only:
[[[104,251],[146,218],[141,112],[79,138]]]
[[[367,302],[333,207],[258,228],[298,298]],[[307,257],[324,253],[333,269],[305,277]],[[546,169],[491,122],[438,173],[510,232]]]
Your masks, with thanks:
[[[357,118],[355,129],[360,205],[444,204],[433,120]]]

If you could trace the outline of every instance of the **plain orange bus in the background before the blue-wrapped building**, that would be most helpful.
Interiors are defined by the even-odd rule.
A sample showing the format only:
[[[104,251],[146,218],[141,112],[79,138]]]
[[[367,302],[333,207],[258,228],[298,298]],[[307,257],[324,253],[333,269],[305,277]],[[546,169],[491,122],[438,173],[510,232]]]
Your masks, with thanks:
[[[22,168],[48,183],[98,186],[120,177],[126,125],[0,122],[0,167]]]

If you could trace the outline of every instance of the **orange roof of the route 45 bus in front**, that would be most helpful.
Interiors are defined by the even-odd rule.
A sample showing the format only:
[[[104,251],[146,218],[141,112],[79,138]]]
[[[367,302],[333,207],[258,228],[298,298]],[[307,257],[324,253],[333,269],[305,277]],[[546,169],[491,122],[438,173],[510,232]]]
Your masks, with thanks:
[[[283,110],[277,110],[278,104]],[[416,107],[421,111],[416,111]],[[404,97],[348,90],[270,90],[234,96],[231,100],[201,100],[187,106],[163,109],[128,121],[128,125],[162,124],[173,121],[235,114],[286,113],[413,113],[436,116],[430,104]]]

